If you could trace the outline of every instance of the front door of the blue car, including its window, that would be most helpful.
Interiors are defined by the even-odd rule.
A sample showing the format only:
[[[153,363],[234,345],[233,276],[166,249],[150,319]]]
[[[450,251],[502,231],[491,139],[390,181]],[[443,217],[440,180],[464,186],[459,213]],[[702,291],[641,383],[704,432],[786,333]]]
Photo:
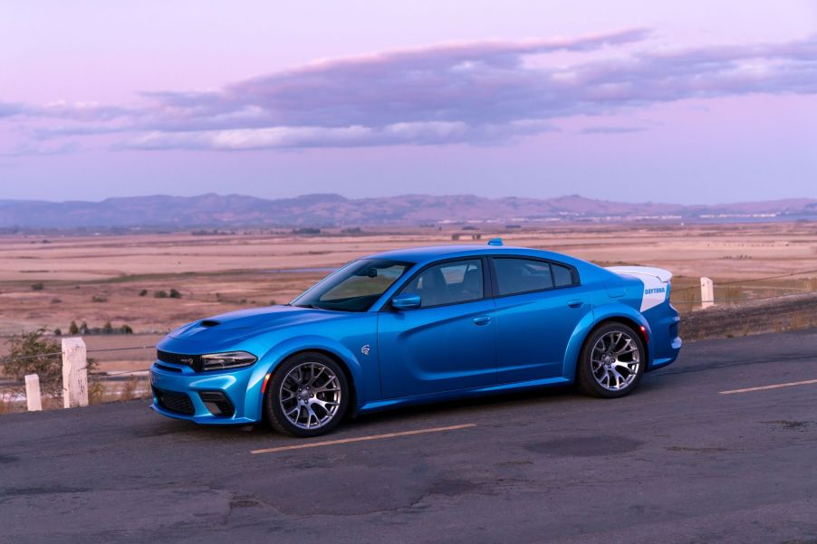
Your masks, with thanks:
[[[420,295],[420,308],[379,312],[384,398],[496,383],[494,301],[485,269],[482,257],[429,266],[398,293]]]

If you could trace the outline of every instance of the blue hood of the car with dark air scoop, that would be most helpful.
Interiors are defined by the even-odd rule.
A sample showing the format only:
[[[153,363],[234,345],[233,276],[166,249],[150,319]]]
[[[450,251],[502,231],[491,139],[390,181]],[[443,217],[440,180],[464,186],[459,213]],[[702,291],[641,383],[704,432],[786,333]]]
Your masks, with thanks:
[[[202,342],[223,342],[245,339],[264,332],[292,325],[337,320],[346,312],[315,310],[295,306],[271,306],[238,310],[187,323],[170,334],[172,339]]]

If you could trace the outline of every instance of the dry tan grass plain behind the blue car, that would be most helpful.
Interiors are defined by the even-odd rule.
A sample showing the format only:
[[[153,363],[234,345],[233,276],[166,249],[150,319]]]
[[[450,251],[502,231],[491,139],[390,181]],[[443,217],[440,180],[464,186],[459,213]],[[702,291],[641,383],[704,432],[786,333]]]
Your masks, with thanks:
[[[136,234],[0,236],[0,357],[4,339],[22,330],[70,323],[128,325],[133,335],[91,335],[91,349],[151,346],[189,320],[290,301],[328,270],[360,255],[417,245],[456,243],[474,231],[454,227],[360,235]],[[817,224],[558,225],[500,233],[506,244],[569,253],[601,264],[667,268],[676,274],[681,311],[699,300],[698,278],[716,282],[716,298],[740,299],[817,290]],[[483,232],[477,243],[495,233]],[[177,290],[180,298],[158,298]],[[149,349],[101,353],[103,369],[146,367]]]

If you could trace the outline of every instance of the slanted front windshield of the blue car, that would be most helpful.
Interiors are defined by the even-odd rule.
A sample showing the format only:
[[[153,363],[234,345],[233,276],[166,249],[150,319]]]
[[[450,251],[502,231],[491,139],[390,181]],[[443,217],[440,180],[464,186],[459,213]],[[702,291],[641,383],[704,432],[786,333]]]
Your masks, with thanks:
[[[410,262],[361,259],[317,282],[292,301],[300,308],[366,311],[411,268]]]

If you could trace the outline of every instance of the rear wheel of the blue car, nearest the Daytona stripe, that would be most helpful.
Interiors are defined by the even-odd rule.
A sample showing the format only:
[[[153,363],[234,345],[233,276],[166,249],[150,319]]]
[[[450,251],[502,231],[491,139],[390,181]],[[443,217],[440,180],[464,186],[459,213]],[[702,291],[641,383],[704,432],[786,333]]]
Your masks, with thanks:
[[[639,385],[647,357],[639,335],[622,323],[594,330],[584,342],[577,381],[583,393],[617,398]]]

